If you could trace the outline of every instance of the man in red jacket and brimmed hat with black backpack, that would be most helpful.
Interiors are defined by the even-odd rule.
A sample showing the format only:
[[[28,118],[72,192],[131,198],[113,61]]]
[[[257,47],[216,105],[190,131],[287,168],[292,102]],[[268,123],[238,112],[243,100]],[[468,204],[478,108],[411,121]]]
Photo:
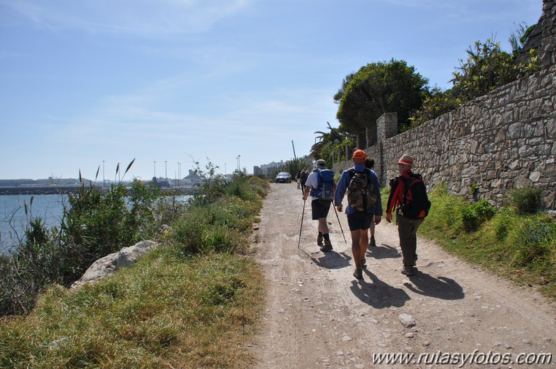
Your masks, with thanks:
[[[404,258],[402,273],[413,276],[418,272],[417,230],[429,214],[431,203],[421,175],[411,171],[413,157],[404,154],[396,164],[399,176],[390,182],[386,221],[392,222],[392,210],[396,209],[399,246]]]

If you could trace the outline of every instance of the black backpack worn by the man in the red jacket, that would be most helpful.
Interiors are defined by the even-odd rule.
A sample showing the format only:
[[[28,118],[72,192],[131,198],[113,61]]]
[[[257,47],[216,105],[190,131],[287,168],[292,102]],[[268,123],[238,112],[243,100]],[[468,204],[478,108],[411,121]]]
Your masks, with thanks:
[[[400,212],[408,219],[423,219],[429,215],[431,202],[420,174],[410,173],[409,178],[398,177],[398,185],[404,186]]]

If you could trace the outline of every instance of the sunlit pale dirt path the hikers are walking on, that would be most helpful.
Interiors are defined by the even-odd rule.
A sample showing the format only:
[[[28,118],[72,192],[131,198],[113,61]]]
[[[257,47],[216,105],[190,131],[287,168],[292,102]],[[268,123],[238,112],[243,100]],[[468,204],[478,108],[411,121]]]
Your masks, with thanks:
[[[376,227],[378,246],[367,251],[368,268],[357,281],[345,214],[338,215],[347,244],[331,210],[334,251],[322,253],[310,201],[298,249],[302,209],[295,183],[271,185],[255,245],[268,283],[264,329],[253,347],[256,368],[457,368],[461,357],[447,354],[472,354],[463,368],[556,367],[556,357],[548,366],[502,365],[521,353],[556,356],[556,309],[537,293],[512,287],[422,238],[420,273],[404,276],[397,228],[386,221]],[[415,325],[406,327],[403,317]],[[421,364],[373,363],[376,353],[413,353],[415,360],[436,353],[448,365],[430,361],[433,356]],[[491,365],[469,363],[489,358]]]

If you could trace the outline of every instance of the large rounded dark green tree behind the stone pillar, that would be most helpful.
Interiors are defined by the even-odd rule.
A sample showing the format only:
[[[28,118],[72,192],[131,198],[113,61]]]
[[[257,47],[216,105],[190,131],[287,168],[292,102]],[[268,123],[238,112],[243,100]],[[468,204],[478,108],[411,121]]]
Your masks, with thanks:
[[[397,113],[398,131],[402,132],[411,113],[427,96],[428,79],[405,61],[367,64],[344,79],[348,81],[344,92],[335,95],[335,99],[340,97],[336,118],[340,129],[356,135],[358,141],[362,141],[365,127],[376,126],[376,119],[383,113]]]

